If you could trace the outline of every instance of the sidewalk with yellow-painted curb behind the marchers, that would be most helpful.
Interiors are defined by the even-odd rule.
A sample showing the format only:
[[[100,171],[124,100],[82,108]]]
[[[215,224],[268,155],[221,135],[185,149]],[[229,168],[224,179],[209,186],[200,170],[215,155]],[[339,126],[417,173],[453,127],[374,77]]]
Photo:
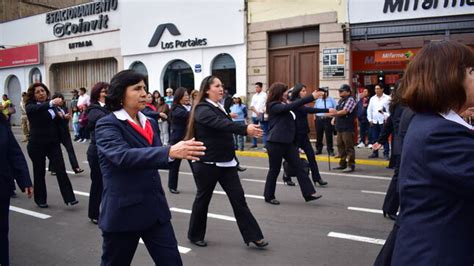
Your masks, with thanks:
[[[313,144],[314,148],[314,142],[311,141]],[[246,156],[246,157],[257,157],[257,158],[268,158],[267,153],[263,150],[263,146],[261,144],[261,141],[259,140],[258,147],[255,148],[250,148],[252,145],[251,142],[246,142],[244,145],[244,151],[236,151],[236,154],[239,156]],[[367,157],[372,153],[372,150],[368,148],[355,148],[355,155],[356,155],[356,164],[357,165],[372,165],[372,166],[381,166],[381,167],[387,167],[388,166],[388,161],[383,158],[383,149],[379,150],[379,158],[376,159],[368,159]],[[335,153],[337,155],[337,148],[334,147]],[[302,158],[306,158],[305,154],[301,154]],[[331,163],[339,163],[339,158],[335,157],[330,157]],[[326,147],[323,147],[323,154],[317,155],[316,156],[316,161],[318,162],[327,162],[328,161],[328,155],[326,152]]]

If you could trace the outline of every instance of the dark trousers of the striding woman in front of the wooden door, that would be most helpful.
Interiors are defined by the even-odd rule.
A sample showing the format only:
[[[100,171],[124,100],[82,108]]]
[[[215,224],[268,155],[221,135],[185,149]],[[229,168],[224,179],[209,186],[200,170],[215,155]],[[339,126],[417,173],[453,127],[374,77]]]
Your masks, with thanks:
[[[316,193],[311,180],[303,170],[298,148],[293,143],[277,143],[268,141],[267,152],[268,160],[270,161],[270,169],[268,170],[265,191],[263,193],[265,200],[268,201],[275,198],[276,181],[280,174],[283,158],[285,158],[292,169],[296,169],[296,178],[298,179],[303,197]]]

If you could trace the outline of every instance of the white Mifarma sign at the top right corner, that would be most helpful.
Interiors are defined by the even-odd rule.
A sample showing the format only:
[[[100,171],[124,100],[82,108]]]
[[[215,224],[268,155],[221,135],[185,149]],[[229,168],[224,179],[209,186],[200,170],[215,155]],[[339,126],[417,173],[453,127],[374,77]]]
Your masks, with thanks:
[[[349,0],[349,23],[366,23],[474,13],[474,0]]]

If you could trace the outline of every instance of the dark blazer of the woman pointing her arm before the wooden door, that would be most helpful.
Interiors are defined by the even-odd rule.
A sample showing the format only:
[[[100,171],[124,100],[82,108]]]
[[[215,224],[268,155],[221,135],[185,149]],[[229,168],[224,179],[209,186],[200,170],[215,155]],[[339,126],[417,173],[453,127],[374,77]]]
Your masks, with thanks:
[[[271,102],[268,104],[268,136],[267,141],[293,143],[296,140],[296,121],[290,111],[314,101],[313,95],[284,104]],[[296,114],[295,114],[296,116]]]

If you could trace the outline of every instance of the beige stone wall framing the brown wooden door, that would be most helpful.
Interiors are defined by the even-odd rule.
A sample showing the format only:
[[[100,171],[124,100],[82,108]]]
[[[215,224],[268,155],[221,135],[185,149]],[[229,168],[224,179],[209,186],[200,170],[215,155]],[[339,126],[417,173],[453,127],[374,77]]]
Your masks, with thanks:
[[[319,26],[319,86],[330,88],[330,95],[339,98],[337,89],[350,81],[350,45],[344,43],[343,28],[347,22],[347,0],[321,1],[248,1],[247,73],[248,99],[255,93],[255,82],[268,88],[268,34],[275,31]],[[344,77],[323,76],[323,50],[345,48]]]

